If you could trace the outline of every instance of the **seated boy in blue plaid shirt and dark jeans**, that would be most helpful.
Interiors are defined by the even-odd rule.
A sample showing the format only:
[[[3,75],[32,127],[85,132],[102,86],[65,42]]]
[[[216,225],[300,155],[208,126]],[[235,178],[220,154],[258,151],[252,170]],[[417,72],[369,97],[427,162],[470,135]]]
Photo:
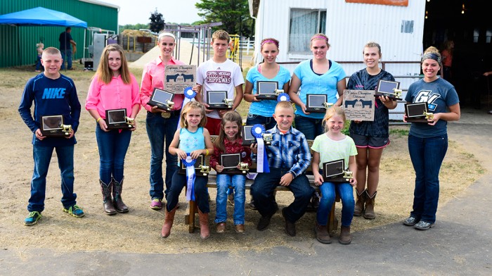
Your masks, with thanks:
[[[277,185],[289,187],[294,194],[294,202],[282,209],[285,219],[285,232],[294,237],[295,222],[304,215],[314,192],[304,171],[311,163],[311,152],[306,137],[292,127],[294,108],[288,101],[280,101],[275,108],[273,118],[277,125],[266,133],[272,134],[271,146],[266,146],[269,173],[259,173],[252,185],[252,196],[261,218],[257,230],[263,231],[270,224],[271,217],[277,211],[271,200]],[[253,152],[257,153],[256,147]]]

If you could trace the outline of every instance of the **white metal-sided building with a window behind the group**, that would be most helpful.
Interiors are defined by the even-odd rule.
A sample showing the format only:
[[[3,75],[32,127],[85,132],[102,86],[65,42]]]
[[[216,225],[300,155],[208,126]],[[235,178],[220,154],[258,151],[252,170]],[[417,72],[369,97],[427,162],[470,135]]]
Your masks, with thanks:
[[[353,1],[364,3],[349,3]],[[261,39],[273,37],[280,42],[278,63],[292,73],[297,63],[312,58],[311,36],[323,32],[331,44],[328,58],[342,63],[348,76],[365,67],[362,51],[369,41],[381,45],[382,66],[403,89],[420,75],[424,0],[249,0],[249,4],[256,19],[256,63],[262,59]]]

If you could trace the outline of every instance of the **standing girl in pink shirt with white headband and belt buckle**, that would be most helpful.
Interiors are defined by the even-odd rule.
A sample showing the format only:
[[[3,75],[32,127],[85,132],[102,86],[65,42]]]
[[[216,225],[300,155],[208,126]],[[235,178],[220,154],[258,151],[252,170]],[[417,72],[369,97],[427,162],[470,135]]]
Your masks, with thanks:
[[[174,172],[178,170],[178,158],[169,153],[169,145],[178,127],[179,114],[183,105],[184,94],[174,95],[174,106],[171,111],[164,111],[158,106],[149,106],[154,88],[165,89],[164,75],[166,65],[183,65],[176,60],[172,53],[176,46],[176,37],[170,32],[161,32],[157,38],[159,56],[150,61],[143,68],[140,99],[143,108],[147,111],[145,126],[150,141],[150,208],[162,209],[162,200],[171,188]],[[164,151],[165,150],[165,151]],[[166,178],[162,179],[162,159],[166,154]],[[164,183],[166,188],[164,190]],[[179,205],[178,205],[179,206]]]

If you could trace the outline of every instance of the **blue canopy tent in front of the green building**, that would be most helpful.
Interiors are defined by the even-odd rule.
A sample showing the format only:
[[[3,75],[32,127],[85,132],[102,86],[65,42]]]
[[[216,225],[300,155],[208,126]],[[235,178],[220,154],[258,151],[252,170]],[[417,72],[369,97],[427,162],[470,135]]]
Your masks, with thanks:
[[[17,11],[15,13],[7,13],[0,15],[0,24],[16,25],[16,26],[62,26],[62,27],[83,27],[87,28],[87,23],[78,18],[53,11],[48,8],[30,8],[25,11]],[[18,32],[19,33],[19,32]],[[20,37],[18,40],[18,55],[20,62]]]

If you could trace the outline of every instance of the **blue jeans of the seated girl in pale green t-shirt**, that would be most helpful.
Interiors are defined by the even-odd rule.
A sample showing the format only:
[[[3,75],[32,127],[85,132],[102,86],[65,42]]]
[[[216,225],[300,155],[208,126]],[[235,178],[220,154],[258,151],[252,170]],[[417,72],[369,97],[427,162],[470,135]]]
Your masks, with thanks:
[[[354,189],[348,182],[333,183],[323,182],[320,186],[321,199],[316,213],[316,220],[319,225],[328,224],[328,214],[330,213],[333,203],[335,202],[335,190],[342,199],[342,226],[350,226],[354,218]]]

